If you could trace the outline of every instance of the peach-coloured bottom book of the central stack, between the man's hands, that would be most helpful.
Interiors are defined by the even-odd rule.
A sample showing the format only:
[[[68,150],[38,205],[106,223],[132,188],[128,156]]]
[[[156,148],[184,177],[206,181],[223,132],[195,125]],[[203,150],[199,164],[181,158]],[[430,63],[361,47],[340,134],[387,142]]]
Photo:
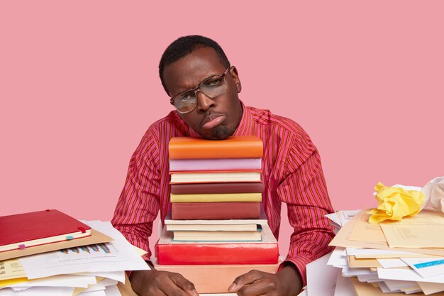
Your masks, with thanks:
[[[250,270],[276,273],[280,261],[274,264],[233,264],[233,265],[158,265],[157,270],[179,273],[194,284],[199,293],[226,293],[233,280]]]

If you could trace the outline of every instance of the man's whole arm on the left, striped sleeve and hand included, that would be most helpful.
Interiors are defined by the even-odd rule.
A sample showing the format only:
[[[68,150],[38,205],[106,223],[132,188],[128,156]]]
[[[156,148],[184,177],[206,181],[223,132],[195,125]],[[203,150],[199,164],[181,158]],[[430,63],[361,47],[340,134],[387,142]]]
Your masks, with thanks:
[[[143,258],[152,270],[137,270],[129,275],[131,286],[138,295],[196,296],[189,280],[178,273],[157,271],[150,263],[148,238],[152,233],[152,221],[161,206],[158,151],[155,136],[148,130],[131,157],[125,186],[111,222],[130,243],[148,252]]]

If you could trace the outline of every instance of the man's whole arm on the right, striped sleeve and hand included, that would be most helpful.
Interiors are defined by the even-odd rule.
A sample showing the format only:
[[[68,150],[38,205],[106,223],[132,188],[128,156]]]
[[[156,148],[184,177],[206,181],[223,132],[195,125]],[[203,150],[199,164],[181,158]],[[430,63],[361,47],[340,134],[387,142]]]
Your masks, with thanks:
[[[287,203],[290,238],[286,261],[277,274],[252,270],[236,278],[229,292],[238,295],[296,295],[306,285],[306,264],[331,251],[328,243],[333,230],[325,214],[333,212],[316,147],[306,133],[298,138],[287,155],[286,177],[277,188],[279,199]]]

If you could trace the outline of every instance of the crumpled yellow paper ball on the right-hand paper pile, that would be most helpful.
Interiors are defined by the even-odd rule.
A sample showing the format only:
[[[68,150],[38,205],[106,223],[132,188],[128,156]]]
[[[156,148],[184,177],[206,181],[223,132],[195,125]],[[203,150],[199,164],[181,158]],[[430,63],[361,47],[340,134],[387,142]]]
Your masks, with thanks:
[[[416,190],[405,190],[401,187],[387,187],[379,182],[375,187],[377,209],[372,209],[369,222],[373,224],[385,220],[401,221],[405,216],[414,216],[421,211],[424,194]]]

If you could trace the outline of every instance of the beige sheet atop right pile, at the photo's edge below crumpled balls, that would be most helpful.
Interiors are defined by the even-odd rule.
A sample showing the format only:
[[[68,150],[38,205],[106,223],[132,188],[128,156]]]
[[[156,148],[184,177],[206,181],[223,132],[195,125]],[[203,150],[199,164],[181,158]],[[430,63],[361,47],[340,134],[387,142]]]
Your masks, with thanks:
[[[423,210],[380,226],[391,248],[444,248],[444,213]]]

